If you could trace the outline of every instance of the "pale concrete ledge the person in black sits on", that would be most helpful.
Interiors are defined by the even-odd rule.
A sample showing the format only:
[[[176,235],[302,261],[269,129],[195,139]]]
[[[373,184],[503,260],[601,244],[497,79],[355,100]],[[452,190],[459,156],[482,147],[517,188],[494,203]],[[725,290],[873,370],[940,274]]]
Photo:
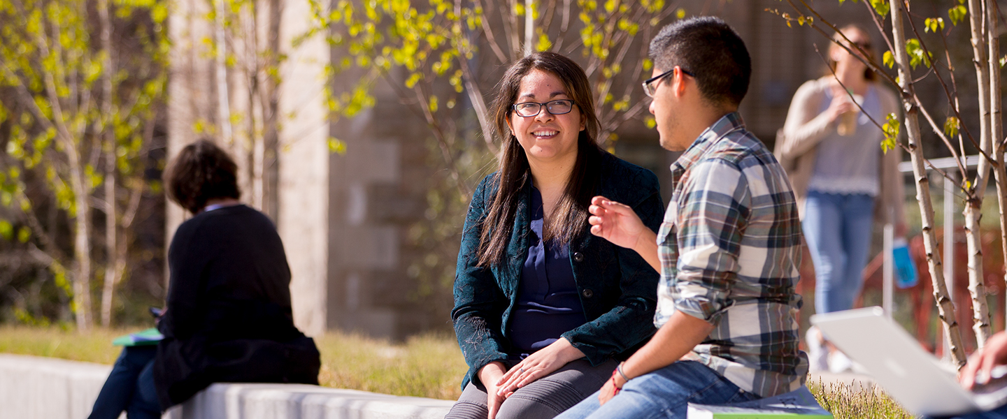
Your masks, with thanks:
[[[86,419],[112,367],[0,354],[0,418]],[[294,384],[214,384],[170,419],[441,419],[453,402]]]

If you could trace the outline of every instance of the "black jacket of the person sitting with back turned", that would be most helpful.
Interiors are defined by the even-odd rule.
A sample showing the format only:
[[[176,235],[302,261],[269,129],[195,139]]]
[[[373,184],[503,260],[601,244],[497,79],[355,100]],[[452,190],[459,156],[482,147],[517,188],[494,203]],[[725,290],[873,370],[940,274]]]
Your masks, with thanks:
[[[244,205],[182,223],[154,381],[162,408],[215,382],[318,384],[314,341],[294,327],[290,268],[276,227]]]

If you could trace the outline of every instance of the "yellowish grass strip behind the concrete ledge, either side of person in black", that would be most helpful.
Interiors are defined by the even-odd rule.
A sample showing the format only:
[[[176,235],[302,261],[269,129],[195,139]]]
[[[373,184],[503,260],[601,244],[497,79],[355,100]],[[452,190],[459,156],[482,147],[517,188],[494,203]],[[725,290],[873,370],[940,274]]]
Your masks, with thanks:
[[[0,353],[111,365],[122,348],[112,340],[138,330],[95,329],[82,334],[58,328],[0,326]],[[468,367],[453,336],[421,335],[403,344],[358,335],[316,338],[322,386],[396,396],[457,400]]]

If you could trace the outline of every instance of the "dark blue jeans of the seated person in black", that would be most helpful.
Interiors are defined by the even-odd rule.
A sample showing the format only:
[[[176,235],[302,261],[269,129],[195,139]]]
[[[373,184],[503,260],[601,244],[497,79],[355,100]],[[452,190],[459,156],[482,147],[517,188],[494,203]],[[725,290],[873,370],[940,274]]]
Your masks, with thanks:
[[[156,355],[155,345],[123,348],[88,419],[117,419],[124,410],[129,419],[160,419],[154,389]]]

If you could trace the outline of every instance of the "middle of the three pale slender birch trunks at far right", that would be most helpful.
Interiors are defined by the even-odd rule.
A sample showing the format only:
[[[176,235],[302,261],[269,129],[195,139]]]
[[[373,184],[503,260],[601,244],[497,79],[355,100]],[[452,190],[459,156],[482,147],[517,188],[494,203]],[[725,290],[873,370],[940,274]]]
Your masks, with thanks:
[[[986,43],[986,7],[985,0],[969,0],[969,22],[972,29],[973,63],[976,66],[976,79],[979,89],[980,140],[979,145],[984,154],[990,155],[992,140],[990,138],[990,68]],[[969,293],[972,295],[973,331],[979,348],[986,346],[990,338],[990,315],[986,304],[986,284],[983,282],[983,243],[980,230],[980,220],[983,217],[983,197],[986,184],[989,182],[990,161],[979,160],[976,180],[973,182],[971,194],[965,205],[965,235],[969,249]],[[967,191],[969,192],[969,191]]]

